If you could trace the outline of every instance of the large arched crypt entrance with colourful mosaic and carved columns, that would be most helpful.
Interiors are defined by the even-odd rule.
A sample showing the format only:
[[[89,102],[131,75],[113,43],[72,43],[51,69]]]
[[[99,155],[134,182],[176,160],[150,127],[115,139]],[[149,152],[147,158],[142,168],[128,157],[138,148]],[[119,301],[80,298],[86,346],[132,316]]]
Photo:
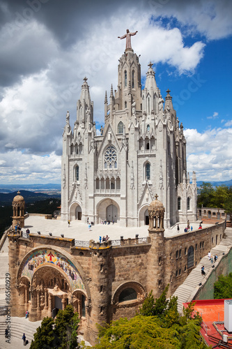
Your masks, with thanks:
[[[27,253],[17,272],[16,288],[21,315],[29,309],[32,321],[54,317],[69,303],[85,317],[91,302],[82,267],[62,248],[40,246]]]

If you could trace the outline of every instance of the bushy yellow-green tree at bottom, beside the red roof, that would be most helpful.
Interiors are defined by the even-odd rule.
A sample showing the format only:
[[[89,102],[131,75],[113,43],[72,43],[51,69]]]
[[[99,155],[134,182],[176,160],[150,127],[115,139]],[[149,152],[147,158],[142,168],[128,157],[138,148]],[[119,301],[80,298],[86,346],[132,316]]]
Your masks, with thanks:
[[[184,309],[184,315],[180,316],[177,311],[177,297],[167,300],[167,291],[168,287],[158,299],[154,299],[153,292],[150,292],[139,314],[131,320],[121,318],[111,325],[98,325],[99,343],[95,348],[208,348],[199,334],[202,319],[199,314],[192,316],[193,304]]]

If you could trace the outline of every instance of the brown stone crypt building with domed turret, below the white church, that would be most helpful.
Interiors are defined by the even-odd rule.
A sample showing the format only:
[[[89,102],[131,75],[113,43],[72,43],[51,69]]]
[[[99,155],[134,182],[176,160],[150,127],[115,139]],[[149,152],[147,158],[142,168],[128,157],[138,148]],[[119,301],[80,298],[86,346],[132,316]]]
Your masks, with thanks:
[[[72,304],[81,318],[79,332],[91,343],[96,323],[131,318],[146,295],[159,297],[169,283],[169,295],[187,274],[219,244],[224,223],[164,237],[164,207],[158,200],[148,209],[148,237],[75,246],[75,239],[12,230],[9,239],[11,314],[29,320],[55,316]],[[116,245],[116,246],[115,246]]]

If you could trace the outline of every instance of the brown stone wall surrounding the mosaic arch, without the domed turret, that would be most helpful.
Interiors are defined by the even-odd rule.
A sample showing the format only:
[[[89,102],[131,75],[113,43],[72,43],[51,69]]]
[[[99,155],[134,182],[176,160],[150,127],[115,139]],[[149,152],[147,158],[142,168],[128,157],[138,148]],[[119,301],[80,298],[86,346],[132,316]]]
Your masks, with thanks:
[[[36,321],[45,315],[52,315],[49,312],[53,303],[50,308],[47,306],[40,309],[43,292],[41,284],[37,285],[36,279],[32,279],[33,287],[26,291],[28,281],[25,283],[20,271],[26,258],[37,249],[58,251],[75,265],[84,289],[71,289],[71,280],[56,265],[51,265],[51,277],[54,273],[60,273],[62,278],[66,278],[68,290],[65,291],[65,297],[68,297],[69,302],[73,302],[72,295],[77,291],[85,295],[86,315],[82,317],[80,330],[86,340],[94,343],[98,335],[96,323],[102,325],[125,316],[131,318],[150,290],[153,290],[155,297],[159,297],[168,283],[169,295],[173,294],[203,255],[207,255],[215,246],[216,236],[219,243],[223,233],[224,224],[219,224],[169,238],[164,238],[163,230],[149,232],[149,237],[143,241],[138,238],[121,239],[121,246],[111,246],[111,241],[103,244],[91,241],[89,247],[80,247],[75,246],[74,239],[33,234],[25,239],[11,232],[8,239],[12,315],[24,316],[28,307],[29,320]],[[194,264],[187,268],[187,251],[190,246],[194,248]],[[35,267],[35,274],[41,267],[42,265]],[[45,263],[46,268],[49,268],[49,263]],[[120,297],[125,290],[135,290],[136,297],[122,301]],[[32,297],[30,301],[27,299],[29,291]],[[63,299],[63,304],[65,302]]]

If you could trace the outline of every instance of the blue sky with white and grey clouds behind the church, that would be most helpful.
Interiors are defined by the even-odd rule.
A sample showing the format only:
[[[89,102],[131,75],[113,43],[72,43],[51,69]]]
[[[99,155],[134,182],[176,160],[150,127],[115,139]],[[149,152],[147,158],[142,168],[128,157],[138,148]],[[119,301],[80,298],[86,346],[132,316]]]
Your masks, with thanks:
[[[231,15],[230,0],[0,0],[0,183],[61,181],[65,114],[73,126],[86,75],[104,124],[127,28],[142,81],[152,61],[162,97],[171,90],[187,169],[231,179]]]

